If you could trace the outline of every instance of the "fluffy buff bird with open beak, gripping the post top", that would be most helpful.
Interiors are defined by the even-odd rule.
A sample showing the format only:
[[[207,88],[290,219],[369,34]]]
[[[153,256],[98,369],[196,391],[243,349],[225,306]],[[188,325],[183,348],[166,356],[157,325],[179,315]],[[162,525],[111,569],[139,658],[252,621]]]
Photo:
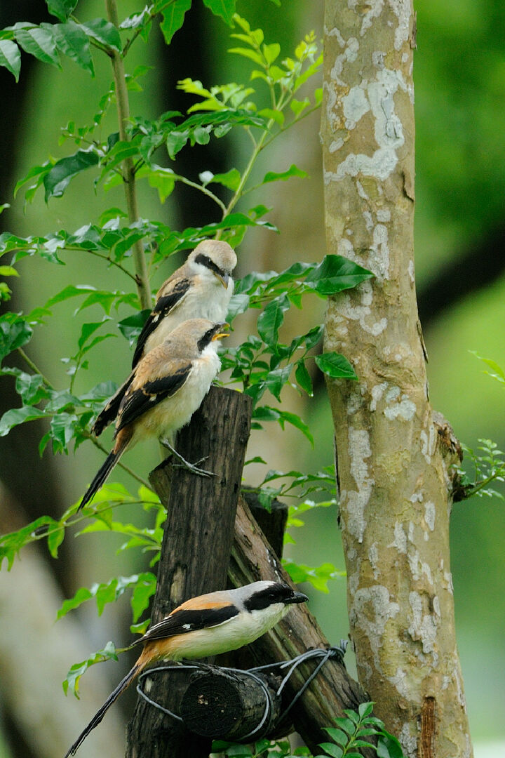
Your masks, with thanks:
[[[114,447],[79,504],[82,509],[104,484],[127,448],[157,437],[186,468],[211,475],[186,461],[173,448],[175,434],[187,424],[220,370],[217,340],[227,337],[228,324],[190,318],[161,345],[142,358],[123,384],[117,412]]]

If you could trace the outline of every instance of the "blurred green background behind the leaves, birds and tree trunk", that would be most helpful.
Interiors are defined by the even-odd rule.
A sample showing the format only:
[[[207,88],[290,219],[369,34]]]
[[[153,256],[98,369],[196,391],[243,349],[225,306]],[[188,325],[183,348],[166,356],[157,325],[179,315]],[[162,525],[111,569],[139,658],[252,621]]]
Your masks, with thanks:
[[[140,5],[136,7],[132,0],[122,2],[121,14],[126,16]],[[485,437],[495,440],[503,449],[505,388],[485,375],[485,366],[470,351],[475,350],[505,367],[505,8],[501,0],[445,3],[417,0],[415,7],[416,280],[429,353],[430,396],[435,409],[446,416],[466,445],[475,448],[477,440]],[[281,8],[270,2],[238,0],[237,9],[250,20],[251,27],[265,30],[267,42],[281,42],[284,54],[289,54],[295,43],[312,29],[318,37],[322,36],[323,0],[282,0]],[[98,0],[81,0],[78,10],[79,18],[83,19],[104,12]],[[26,17],[30,17],[27,12]],[[15,20],[20,18],[18,15]],[[139,42],[128,69],[139,63],[157,69],[145,77],[144,92],[132,94],[132,113],[154,117],[169,108],[191,105],[191,99],[175,90],[176,80],[185,76],[199,78],[204,85],[245,81],[243,77],[248,70],[245,61],[226,52],[232,46],[230,31],[223,22],[198,7],[187,16],[185,36],[179,33],[181,39],[178,41],[177,36],[174,39],[176,49],[171,58],[167,58],[155,30],[148,46]],[[23,56],[23,66],[25,62]],[[13,139],[5,148],[9,154],[4,156],[5,161],[12,163],[12,172],[8,186],[2,186],[0,202],[11,202],[12,207],[0,219],[3,229],[20,235],[60,228],[72,231],[83,224],[95,223],[104,208],[123,205],[120,189],[111,190],[104,199],[100,189],[97,195],[93,193],[92,179],[86,176],[73,180],[64,197],[51,199],[48,206],[39,193],[26,212],[22,193],[15,202],[11,196],[13,180],[30,166],[44,161],[48,155],[60,157],[70,151],[70,146],[58,146],[59,128],[70,119],[86,124],[95,112],[101,93],[111,81],[108,61],[95,55],[95,64],[94,80],[68,61],[64,62],[63,72],[42,64],[31,66],[26,73],[22,68],[21,77],[27,77],[26,95],[18,104],[14,95],[10,111],[15,119]],[[260,84],[253,86],[260,90]],[[295,260],[323,257],[319,118],[319,114],[310,117],[263,155],[258,175],[266,169],[285,171],[296,163],[309,172],[310,178],[277,183],[248,202],[248,207],[254,205],[253,201],[273,205],[269,218],[279,226],[281,234],[252,232],[238,249],[238,276],[251,269],[279,270]],[[111,112],[104,134],[116,128]],[[192,165],[188,170],[198,173],[209,168],[212,171],[227,171],[234,165],[239,168],[244,161],[241,150],[241,139],[223,141],[223,145],[211,142],[198,152],[198,168]],[[141,186],[140,205],[143,217],[173,222],[176,227],[214,220],[212,211],[201,205],[200,197],[195,195],[174,193],[161,207],[155,191]],[[28,310],[39,305],[71,280],[96,287],[127,287],[126,281],[118,283],[114,271],[104,271],[92,258],[67,256],[65,263],[64,267],[56,267],[25,259],[19,266],[21,278],[15,282],[22,299],[16,300],[16,307]],[[169,261],[158,272],[154,286],[175,265]],[[67,309],[58,306],[55,313],[54,322],[39,330],[29,347],[30,356],[51,381],[63,386],[64,365],[60,359],[70,355],[77,324],[71,318],[73,303]],[[120,315],[124,317],[127,312]],[[290,330],[294,333],[302,321],[308,327],[322,317],[320,301],[307,299],[303,313],[290,315],[286,333]],[[86,320],[91,319],[86,316]],[[238,333],[247,333],[251,328],[253,324],[249,322],[238,327]],[[127,366],[123,338],[108,340],[96,350],[89,375],[79,380],[82,383],[79,390],[102,378],[120,381]],[[271,434],[265,441],[259,437],[260,433],[254,433],[251,456],[268,456],[271,468],[285,470],[316,470],[330,464],[331,418],[323,388],[303,406],[298,396],[288,390],[285,403],[310,423],[316,437],[315,448],[310,449],[295,431],[287,431],[282,441]],[[10,444],[9,438],[1,442],[0,450]],[[36,446],[29,446],[28,453],[35,458]],[[145,474],[156,464],[157,456],[155,446],[139,451],[133,456],[134,465]],[[126,462],[132,464],[133,458]],[[75,457],[58,459],[57,490],[64,506],[79,497],[100,462],[101,456],[86,446]],[[250,483],[255,484],[262,473],[251,467]],[[42,493],[41,512],[47,510],[44,500]],[[307,564],[330,561],[343,568],[335,512],[328,509],[313,512],[307,515],[306,522],[306,528],[294,535],[297,545],[290,548],[289,555]],[[488,753],[482,745],[493,740],[505,741],[503,501],[475,498],[458,503],[451,518],[451,540],[457,638],[472,736],[478,743],[476,756],[483,758]],[[61,582],[67,594],[82,584],[105,581],[111,575],[142,568],[140,559],[132,565],[131,558],[124,553],[117,559],[112,542],[110,536],[83,538],[72,544],[71,557],[67,547],[65,565],[71,568],[67,568]],[[57,575],[58,571],[56,568]],[[5,572],[2,581],[9,581]],[[330,583],[329,595],[311,593],[311,608],[334,643],[348,634],[345,603],[344,580]],[[115,613],[114,608],[108,610],[104,619],[98,621],[94,609],[81,613],[80,618],[90,630],[89,650],[101,647],[111,637],[118,644],[128,641],[126,616],[120,632],[114,628]],[[104,623],[108,625],[105,632]],[[83,651],[83,657],[86,652]],[[63,662],[61,678],[71,662]],[[111,678],[117,678],[115,672]],[[55,708],[58,697],[59,692],[55,694]],[[492,748],[491,753],[505,755],[505,742]]]

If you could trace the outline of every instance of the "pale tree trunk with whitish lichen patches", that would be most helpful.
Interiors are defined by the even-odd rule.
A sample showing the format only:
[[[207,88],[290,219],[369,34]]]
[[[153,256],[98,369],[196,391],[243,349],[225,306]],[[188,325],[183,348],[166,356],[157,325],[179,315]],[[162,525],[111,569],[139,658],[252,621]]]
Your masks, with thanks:
[[[375,280],[329,302],[348,608],[359,678],[408,756],[471,756],[454,632],[450,465],[434,423],[413,265],[410,0],[326,2],[323,153],[329,252]]]

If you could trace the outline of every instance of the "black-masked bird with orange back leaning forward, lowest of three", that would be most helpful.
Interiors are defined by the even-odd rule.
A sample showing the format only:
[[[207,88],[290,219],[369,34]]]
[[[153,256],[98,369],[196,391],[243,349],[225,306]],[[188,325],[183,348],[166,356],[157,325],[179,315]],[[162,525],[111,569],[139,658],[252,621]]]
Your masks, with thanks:
[[[210,592],[186,600],[130,646],[143,644],[144,650],[135,666],[70,747],[65,758],[76,753],[112,703],[148,664],[158,660],[180,661],[183,658],[217,656],[236,650],[275,626],[293,603],[305,603],[307,600],[307,595],[277,581],[255,581],[236,590]]]

